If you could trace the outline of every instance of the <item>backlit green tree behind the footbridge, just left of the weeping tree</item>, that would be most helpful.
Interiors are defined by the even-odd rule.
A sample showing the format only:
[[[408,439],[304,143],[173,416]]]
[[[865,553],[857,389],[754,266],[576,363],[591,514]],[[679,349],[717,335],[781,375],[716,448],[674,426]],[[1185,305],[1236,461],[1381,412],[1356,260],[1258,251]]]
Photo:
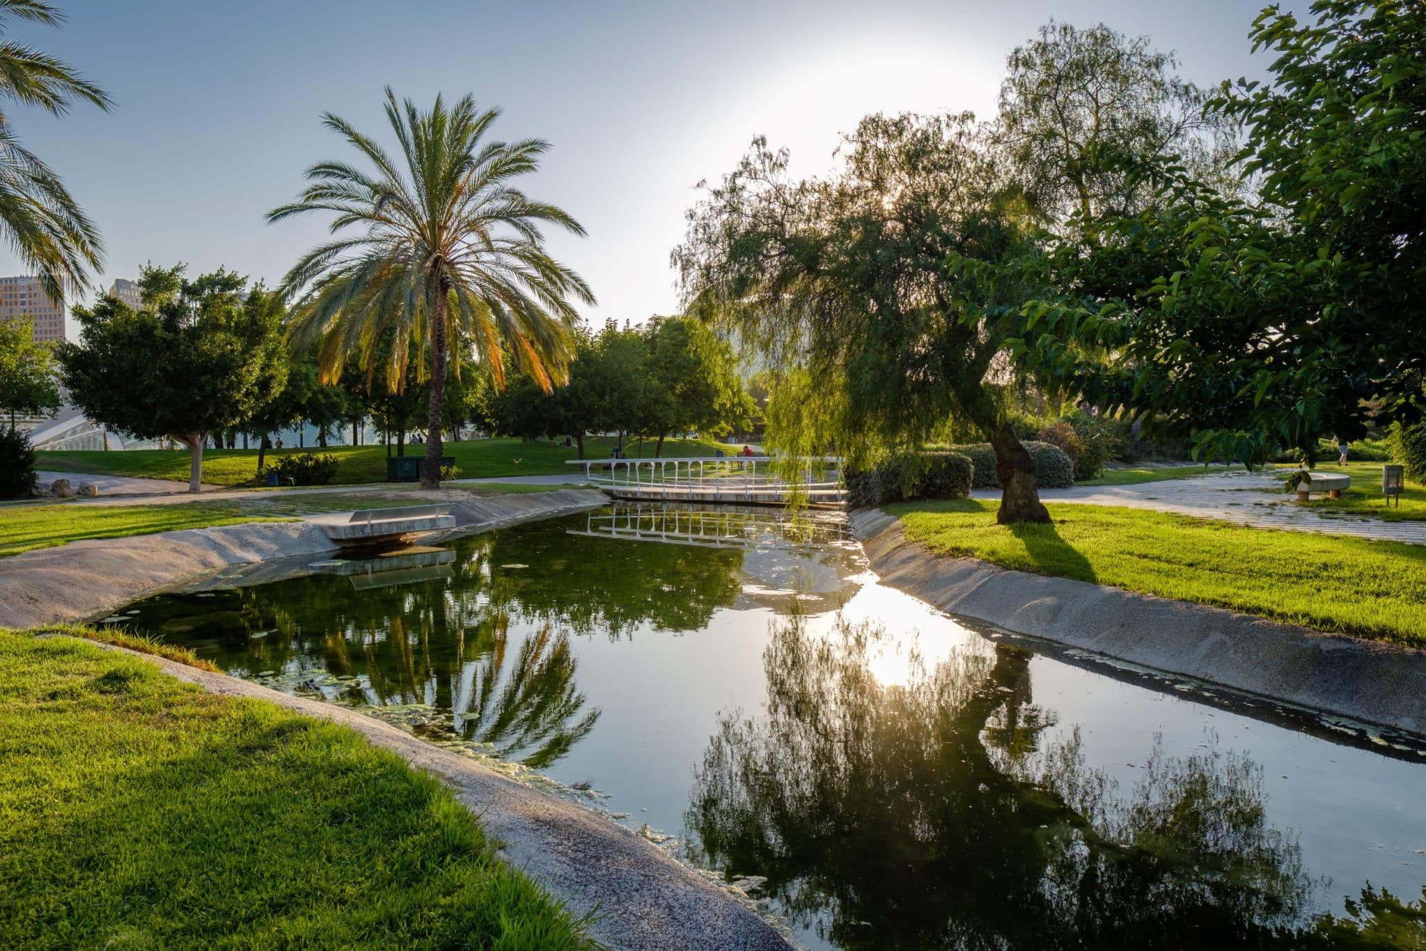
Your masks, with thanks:
[[[722,435],[747,425],[756,408],[726,341],[683,317],[656,317],[643,325],[643,336],[649,348],[645,426],[659,441],[655,458],[663,455],[669,433]]]

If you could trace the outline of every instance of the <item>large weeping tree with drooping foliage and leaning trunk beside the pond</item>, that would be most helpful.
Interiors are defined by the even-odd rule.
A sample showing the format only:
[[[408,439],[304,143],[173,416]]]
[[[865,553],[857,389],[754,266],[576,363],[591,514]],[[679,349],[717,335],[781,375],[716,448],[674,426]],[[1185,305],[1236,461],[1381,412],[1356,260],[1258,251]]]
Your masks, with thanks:
[[[964,421],[995,449],[1000,522],[1048,522],[1002,399],[1034,228],[987,138],[970,115],[871,115],[800,181],[754,140],[673,259],[689,311],[776,368],[776,448],[866,465]]]

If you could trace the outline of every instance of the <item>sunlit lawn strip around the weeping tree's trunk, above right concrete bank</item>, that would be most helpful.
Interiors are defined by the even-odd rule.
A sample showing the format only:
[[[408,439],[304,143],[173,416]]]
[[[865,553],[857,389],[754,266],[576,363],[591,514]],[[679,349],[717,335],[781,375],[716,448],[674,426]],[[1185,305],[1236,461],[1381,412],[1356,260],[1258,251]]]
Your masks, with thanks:
[[[1051,503],[1054,525],[1005,528],[997,506],[954,499],[887,510],[908,539],[943,555],[1426,647],[1426,546],[1098,505]]]

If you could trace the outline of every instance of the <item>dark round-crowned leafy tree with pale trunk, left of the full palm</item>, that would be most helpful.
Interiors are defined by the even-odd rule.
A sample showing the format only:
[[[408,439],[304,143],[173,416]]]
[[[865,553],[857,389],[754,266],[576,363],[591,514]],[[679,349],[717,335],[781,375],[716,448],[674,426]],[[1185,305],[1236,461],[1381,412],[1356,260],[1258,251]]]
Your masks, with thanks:
[[[252,419],[287,382],[282,304],[231,271],[188,281],[181,264],[144,268],[138,287],[138,311],[113,297],[74,308],[80,339],[60,345],[63,381],[90,419],[187,445],[198,492],[204,441]]]

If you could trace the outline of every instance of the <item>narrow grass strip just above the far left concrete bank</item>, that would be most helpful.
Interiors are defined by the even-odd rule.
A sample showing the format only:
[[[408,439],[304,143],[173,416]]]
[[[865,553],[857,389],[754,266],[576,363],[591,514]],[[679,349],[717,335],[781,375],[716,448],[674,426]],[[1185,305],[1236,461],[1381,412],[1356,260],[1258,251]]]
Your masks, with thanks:
[[[446,490],[488,496],[549,492],[552,488],[555,486],[488,483],[448,486]],[[411,495],[409,500],[392,498],[408,493]],[[168,502],[163,505],[94,505],[80,500],[53,505],[10,505],[0,508],[0,557],[37,548],[67,545],[80,539],[127,538],[241,522],[291,522],[299,516],[319,512],[349,512],[424,503],[426,499],[414,485],[401,485],[381,492],[254,492],[251,496],[234,500]]]

